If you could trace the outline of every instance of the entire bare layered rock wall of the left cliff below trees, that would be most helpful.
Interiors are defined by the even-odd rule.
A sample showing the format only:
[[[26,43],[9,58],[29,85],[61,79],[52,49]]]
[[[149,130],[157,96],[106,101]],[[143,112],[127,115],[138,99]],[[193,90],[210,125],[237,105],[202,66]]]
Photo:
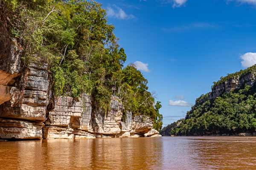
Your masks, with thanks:
[[[112,97],[108,113],[92,111],[87,94],[79,99],[55,98],[48,66],[23,66],[22,49],[15,41],[4,42],[0,44],[0,139],[160,136],[148,116],[123,116],[117,97]]]

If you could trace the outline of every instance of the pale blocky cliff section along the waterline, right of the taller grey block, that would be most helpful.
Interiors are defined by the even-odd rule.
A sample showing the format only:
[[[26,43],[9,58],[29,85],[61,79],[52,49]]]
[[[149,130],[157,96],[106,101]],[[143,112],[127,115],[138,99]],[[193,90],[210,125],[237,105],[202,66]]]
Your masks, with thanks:
[[[90,102],[90,96],[86,94],[76,100],[68,96],[55,99],[55,108],[49,111],[45,122],[44,139],[146,137],[159,134],[147,116],[133,117],[132,113],[126,113],[124,119],[122,102],[116,97],[111,100],[107,114],[103,111],[93,113]]]

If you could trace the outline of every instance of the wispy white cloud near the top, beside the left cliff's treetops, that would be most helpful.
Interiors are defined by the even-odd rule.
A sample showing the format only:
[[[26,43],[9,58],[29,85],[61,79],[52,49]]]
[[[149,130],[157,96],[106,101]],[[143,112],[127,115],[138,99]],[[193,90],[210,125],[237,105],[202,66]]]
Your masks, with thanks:
[[[115,6],[115,5],[113,5],[113,8],[107,7],[107,14],[108,14],[108,17],[113,17],[120,20],[129,20],[129,19],[135,18],[134,15],[126,14],[122,8],[119,8],[118,6]]]

